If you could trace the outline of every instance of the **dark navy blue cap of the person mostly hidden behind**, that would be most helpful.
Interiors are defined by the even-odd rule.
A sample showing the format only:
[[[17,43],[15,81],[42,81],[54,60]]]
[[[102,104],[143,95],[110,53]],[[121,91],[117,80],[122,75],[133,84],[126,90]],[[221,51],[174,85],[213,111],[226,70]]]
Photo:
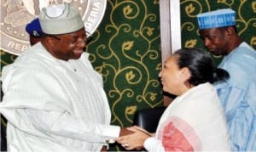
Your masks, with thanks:
[[[26,32],[32,37],[41,37],[43,31],[38,18],[26,25]]]

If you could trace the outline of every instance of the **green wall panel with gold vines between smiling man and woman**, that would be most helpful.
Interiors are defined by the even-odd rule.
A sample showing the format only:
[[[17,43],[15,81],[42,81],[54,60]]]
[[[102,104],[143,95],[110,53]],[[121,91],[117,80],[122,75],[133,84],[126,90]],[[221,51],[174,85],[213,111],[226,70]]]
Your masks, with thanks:
[[[163,106],[159,1],[110,1],[87,51],[102,73],[114,125],[127,127],[137,110]],[[110,150],[124,150],[117,144]]]

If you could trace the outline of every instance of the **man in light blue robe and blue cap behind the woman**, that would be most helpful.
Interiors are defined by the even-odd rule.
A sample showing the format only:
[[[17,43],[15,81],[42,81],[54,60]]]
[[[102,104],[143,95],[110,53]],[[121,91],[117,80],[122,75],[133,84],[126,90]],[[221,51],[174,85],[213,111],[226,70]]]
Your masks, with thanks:
[[[236,31],[236,12],[230,8],[197,15],[200,36],[214,55],[223,55],[218,68],[230,79],[218,83],[218,96],[228,121],[232,149],[256,151],[256,51]]]

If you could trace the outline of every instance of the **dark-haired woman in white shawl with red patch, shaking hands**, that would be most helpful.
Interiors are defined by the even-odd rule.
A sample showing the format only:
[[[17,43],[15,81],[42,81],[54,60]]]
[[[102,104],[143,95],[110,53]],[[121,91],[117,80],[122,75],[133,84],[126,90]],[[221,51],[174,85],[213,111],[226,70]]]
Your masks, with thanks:
[[[125,149],[148,151],[230,150],[224,112],[211,83],[229,78],[211,56],[195,48],[179,49],[159,74],[163,90],[177,95],[155,134],[131,127],[134,134],[117,138]]]

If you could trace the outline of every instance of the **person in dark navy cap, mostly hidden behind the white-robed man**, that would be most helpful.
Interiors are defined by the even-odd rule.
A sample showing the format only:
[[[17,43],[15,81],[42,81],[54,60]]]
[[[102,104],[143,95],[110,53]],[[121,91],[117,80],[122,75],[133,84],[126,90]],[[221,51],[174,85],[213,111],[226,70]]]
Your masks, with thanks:
[[[43,31],[41,29],[38,18],[32,20],[26,25],[26,32],[29,34],[29,42],[31,46],[41,40]]]

